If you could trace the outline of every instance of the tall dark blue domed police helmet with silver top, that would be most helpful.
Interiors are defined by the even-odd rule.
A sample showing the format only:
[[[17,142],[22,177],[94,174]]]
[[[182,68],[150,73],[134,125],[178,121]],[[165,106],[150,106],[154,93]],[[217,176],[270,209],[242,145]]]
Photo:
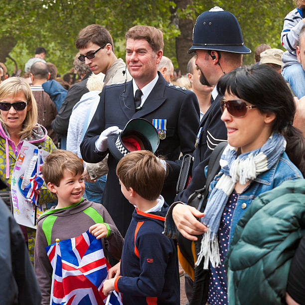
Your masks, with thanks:
[[[193,29],[193,45],[197,49],[225,51],[239,54],[251,53],[244,45],[243,35],[236,17],[229,11],[215,6],[197,17]]]

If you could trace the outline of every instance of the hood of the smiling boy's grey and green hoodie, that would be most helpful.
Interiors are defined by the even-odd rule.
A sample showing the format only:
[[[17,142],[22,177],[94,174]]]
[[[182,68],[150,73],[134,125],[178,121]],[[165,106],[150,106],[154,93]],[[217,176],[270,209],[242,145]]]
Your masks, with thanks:
[[[88,199],[84,199],[83,197],[81,198],[80,201],[73,203],[64,208],[56,209],[55,206],[52,206],[49,210],[47,210],[46,212],[44,212],[39,216],[37,220],[37,224],[46,217],[48,217],[49,215],[53,215],[57,217],[71,216],[73,214],[83,212],[85,209],[87,209],[90,206],[92,206],[92,201],[89,201]]]

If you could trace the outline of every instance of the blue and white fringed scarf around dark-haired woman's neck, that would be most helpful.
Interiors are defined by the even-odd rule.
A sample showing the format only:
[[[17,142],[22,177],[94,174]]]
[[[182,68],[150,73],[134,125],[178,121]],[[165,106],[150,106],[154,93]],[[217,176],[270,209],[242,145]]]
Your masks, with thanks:
[[[269,170],[281,157],[286,148],[285,138],[274,133],[259,149],[237,155],[237,149],[228,145],[220,158],[223,175],[210,193],[201,222],[208,228],[201,240],[196,266],[204,257],[203,269],[209,262],[215,268],[220,264],[218,248],[218,229],[221,216],[236,182],[246,184],[257,175]]]

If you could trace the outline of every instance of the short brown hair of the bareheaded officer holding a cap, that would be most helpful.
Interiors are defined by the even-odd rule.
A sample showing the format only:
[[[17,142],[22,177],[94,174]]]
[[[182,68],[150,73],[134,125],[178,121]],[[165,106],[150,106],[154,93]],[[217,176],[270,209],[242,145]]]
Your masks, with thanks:
[[[125,34],[126,40],[131,39],[145,39],[152,47],[153,52],[163,50],[163,33],[161,30],[149,25],[136,25],[128,30]]]

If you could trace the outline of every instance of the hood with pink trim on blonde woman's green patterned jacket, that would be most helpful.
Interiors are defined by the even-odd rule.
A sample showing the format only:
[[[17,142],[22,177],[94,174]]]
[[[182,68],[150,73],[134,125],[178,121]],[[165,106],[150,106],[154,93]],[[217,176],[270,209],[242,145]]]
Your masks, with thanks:
[[[37,124],[32,129],[32,133],[30,134],[30,136],[25,139],[22,139],[16,147],[14,142],[10,140],[9,134],[5,129],[5,127],[3,127],[2,124],[0,124],[0,137],[5,140],[5,161],[6,161],[5,178],[6,179],[9,178],[9,146],[15,153],[15,156],[17,156],[22,147],[23,140],[28,141],[31,144],[40,143],[46,140],[47,135],[48,133],[46,129],[43,126]]]

